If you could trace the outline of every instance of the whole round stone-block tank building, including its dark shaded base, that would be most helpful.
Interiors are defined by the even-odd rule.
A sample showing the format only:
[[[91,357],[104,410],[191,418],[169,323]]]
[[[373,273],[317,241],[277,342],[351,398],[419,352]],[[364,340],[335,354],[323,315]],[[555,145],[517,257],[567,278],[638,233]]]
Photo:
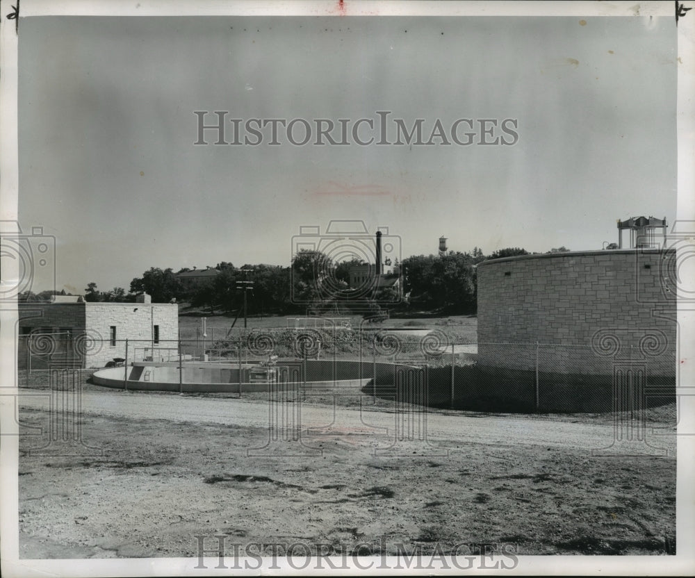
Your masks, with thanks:
[[[491,395],[603,411],[624,386],[663,402],[676,376],[675,258],[637,248],[480,263],[478,367],[495,376]]]

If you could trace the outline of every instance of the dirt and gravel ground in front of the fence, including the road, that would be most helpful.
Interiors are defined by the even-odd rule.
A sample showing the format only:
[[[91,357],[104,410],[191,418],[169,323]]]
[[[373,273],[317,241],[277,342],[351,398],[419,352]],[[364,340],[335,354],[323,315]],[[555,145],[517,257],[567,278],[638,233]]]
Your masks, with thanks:
[[[42,386],[22,391],[22,424],[47,429]],[[19,556],[197,556],[196,536],[214,548],[217,534],[229,552],[301,542],[322,553],[460,543],[675,553],[675,440],[666,456],[598,456],[611,415],[430,410],[425,444],[399,438],[387,402],[361,396],[359,411],[352,393],[337,408],[330,395],[302,404],[302,424],[315,427],[301,445],[267,425],[269,408],[288,404],[86,386],[72,431],[92,449],[67,436],[37,450],[37,438],[20,436]],[[648,424],[673,431],[674,406],[649,412]]]

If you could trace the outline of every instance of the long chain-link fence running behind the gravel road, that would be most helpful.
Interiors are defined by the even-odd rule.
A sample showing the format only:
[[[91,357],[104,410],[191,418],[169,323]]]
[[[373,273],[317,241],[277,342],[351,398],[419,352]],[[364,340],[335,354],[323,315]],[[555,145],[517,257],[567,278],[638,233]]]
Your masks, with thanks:
[[[672,347],[471,343],[439,329],[215,328],[156,341],[35,333],[19,336],[18,351],[24,374],[124,367],[124,387],[164,379],[172,390],[185,383],[219,385],[211,390],[234,384],[239,394],[247,384],[275,383],[281,368],[303,364],[304,386],[474,411],[635,411],[671,402],[676,393]]]

